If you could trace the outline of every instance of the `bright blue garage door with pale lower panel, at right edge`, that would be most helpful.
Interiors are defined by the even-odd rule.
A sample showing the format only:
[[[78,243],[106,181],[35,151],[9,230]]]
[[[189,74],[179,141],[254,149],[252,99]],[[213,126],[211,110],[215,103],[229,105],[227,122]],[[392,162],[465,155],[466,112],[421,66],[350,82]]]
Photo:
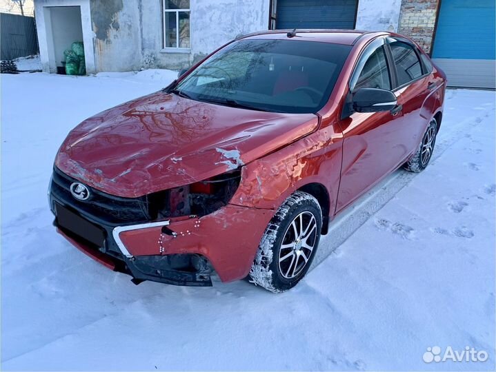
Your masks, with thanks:
[[[433,59],[454,86],[494,87],[495,0],[442,0]]]

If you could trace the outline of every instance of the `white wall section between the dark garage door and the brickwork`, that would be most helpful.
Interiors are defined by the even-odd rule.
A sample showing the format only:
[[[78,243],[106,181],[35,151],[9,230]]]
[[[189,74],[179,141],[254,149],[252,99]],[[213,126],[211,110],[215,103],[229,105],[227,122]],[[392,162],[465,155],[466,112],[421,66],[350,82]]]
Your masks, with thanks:
[[[359,0],[356,30],[396,32],[401,0]]]

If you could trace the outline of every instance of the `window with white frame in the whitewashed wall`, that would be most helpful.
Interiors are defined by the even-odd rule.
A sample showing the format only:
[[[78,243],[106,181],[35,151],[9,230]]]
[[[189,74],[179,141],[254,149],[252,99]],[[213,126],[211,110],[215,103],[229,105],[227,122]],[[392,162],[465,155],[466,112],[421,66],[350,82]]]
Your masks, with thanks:
[[[190,48],[190,0],[163,1],[163,48]]]

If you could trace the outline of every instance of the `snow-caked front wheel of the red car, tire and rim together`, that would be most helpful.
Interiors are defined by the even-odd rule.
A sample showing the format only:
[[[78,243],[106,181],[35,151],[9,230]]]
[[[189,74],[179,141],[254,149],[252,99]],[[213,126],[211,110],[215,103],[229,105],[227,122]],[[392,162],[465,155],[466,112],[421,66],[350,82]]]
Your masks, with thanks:
[[[322,211],[306,192],[291,194],[262,236],[250,269],[250,282],[272,292],[295,287],[312,264],[319,245]]]

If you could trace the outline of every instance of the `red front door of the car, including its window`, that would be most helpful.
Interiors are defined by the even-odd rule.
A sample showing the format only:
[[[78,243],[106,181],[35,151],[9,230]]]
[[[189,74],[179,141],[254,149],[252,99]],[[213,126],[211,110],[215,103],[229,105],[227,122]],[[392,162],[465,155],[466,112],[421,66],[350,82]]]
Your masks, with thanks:
[[[376,39],[362,54],[350,80],[350,90],[374,87],[392,90],[393,74],[386,58],[384,39]],[[397,138],[403,130],[398,112],[354,112],[341,120],[344,134],[341,183],[336,211],[366,192],[397,167],[405,149]]]

